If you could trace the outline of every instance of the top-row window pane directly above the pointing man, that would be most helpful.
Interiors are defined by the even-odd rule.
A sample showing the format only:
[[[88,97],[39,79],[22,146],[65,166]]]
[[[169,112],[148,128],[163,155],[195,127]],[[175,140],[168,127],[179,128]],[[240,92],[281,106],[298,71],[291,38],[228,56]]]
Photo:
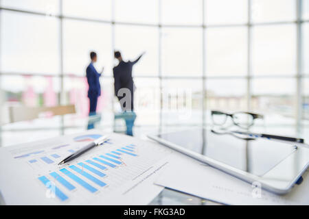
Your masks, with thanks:
[[[129,23],[158,23],[157,0],[116,0],[115,20]]]

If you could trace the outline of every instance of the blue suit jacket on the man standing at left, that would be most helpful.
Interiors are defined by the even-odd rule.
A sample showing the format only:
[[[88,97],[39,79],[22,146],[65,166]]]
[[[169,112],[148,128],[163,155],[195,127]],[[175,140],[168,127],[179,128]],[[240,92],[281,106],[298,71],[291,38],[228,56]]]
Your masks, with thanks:
[[[89,64],[86,70],[87,81],[89,84],[88,97],[98,97],[101,95],[101,86],[99,78],[101,74],[95,70],[92,62]]]

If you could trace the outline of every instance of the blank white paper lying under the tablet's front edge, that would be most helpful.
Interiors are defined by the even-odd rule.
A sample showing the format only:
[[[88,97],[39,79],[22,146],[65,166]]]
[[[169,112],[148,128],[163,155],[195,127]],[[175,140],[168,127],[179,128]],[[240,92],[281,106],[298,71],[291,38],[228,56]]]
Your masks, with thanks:
[[[157,185],[228,205],[309,205],[308,170],[300,185],[280,196],[185,155],[174,155],[155,180]]]

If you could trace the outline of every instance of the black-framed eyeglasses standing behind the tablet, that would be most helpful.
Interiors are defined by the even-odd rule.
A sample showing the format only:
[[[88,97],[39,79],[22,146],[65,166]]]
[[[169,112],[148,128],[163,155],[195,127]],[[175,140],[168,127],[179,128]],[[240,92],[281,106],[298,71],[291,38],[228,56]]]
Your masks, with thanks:
[[[264,118],[264,116],[259,114],[253,114],[250,112],[236,112],[234,114],[227,114],[225,112],[220,112],[216,110],[211,110],[211,119],[214,125],[225,125],[227,122],[227,117],[231,117],[233,124],[247,129],[254,124],[256,118]]]

